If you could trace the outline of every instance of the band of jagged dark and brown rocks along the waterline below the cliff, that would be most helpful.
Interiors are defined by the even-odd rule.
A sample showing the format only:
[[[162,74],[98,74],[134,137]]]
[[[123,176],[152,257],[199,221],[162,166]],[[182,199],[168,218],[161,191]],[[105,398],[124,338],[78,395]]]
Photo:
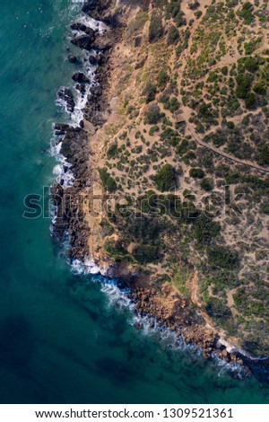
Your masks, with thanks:
[[[84,262],[89,257],[89,233],[91,228],[85,219],[84,195],[88,194],[92,184],[91,151],[89,148],[89,134],[94,134],[99,127],[106,122],[108,110],[107,87],[109,84],[110,50],[120,40],[122,26],[119,24],[119,15],[112,14],[108,0],[92,0],[82,6],[82,12],[91,18],[103,22],[107,31],[100,34],[86,25],[74,22],[71,29],[79,31],[71,42],[83,50],[90,52],[89,61],[97,65],[95,72],[95,84],[91,85],[90,94],[86,107],[83,110],[84,119],[79,127],[56,123],[55,134],[62,143],[60,154],[63,154],[68,163],[71,164],[71,171],[74,173],[72,186],[63,188],[63,183],[56,183],[51,189],[52,202],[56,206],[56,219],[54,223],[54,236],[57,241],[62,241],[66,234],[69,239],[69,250],[67,257],[71,261],[78,259]],[[97,51],[91,55],[91,50]],[[76,63],[76,57],[68,57],[71,63]],[[89,84],[89,78],[83,72],[76,72],[73,75],[76,89],[80,92],[85,90]],[[67,110],[74,110],[74,99],[70,90],[62,89],[62,98],[67,103]],[[88,126],[90,125],[90,126]],[[90,161],[89,161],[90,157]],[[120,268],[114,267],[113,277],[123,279],[131,293],[131,302],[134,303],[136,312],[141,315],[148,315],[154,318],[161,327],[175,332],[178,338],[183,339],[187,344],[203,350],[205,358],[217,356],[227,364],[243,365],[246,374],[257,374],[261,379],[266,379],[269,372],[269,360],[252,359],[236,349],[230,349],[223,342],[217,330],[204,324],[199,312],[189,312],[189,303],[181,299],[178,293],[171,291],[170,287],[164,284],[161,287],[161,295],[151,286],[141,285],[137,282],[139,275],[130,277],[131,272],[122,272]],[[105,274],[109,275],[109,274]],[[146,279],[146,277],[144,277]],[[162,302],[161,302],[162,301]],[[139,329],[139,324],[137,325]]]

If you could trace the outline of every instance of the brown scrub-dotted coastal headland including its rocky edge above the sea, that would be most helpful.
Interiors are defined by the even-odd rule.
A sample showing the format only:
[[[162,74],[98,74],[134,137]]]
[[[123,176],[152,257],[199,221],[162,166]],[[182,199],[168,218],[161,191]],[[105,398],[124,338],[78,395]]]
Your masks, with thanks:
[[[240,13],[244,5],[236,3]],[[211,38],[212,19],[223,34],[226,30],[216,13],[220,19],[221,13],[222,18],[229,13],[221,2],[213,4],[83,4],[82,12],[103,26],[96,31],[85,24],[72,25],[72,43],[89,52],[96,70],[89,92],[88,76],[73,76],[76,89],[87,92],[79,126],[55,126],[74,183],[63,187],[59,182],[52,188],[54,233],[59,240],[68,233],[68,258],[82,262],[85,272],[122,280],[140,315],[153,317],[178,338],[201,348],[204,357],[218,356],[253,369],[268,365],[248,355],[268,353],[268,315],[256,311],[267,297],[263,280],[268,268],[268,217],[257,202],[249,207],[250,193],[266,205],[268,189],[263,150],[267,92],[255,90],[268,67],[265,31],[263,22],[254,21],[256,26],[248,33],[239,13],[230,16],[231,28],[237,21],[241,24],[244,45],[254,42],[254,31],[260,37],[255,54],[246,56],[240,46],[233,50],[227,34],[223,40],[217,33]],[[251,15],[256,16],[254,12]],[[262,58],[248,58],[248,63],[246,57]],[[233,97],[236,86],[231,79],[237,90],[242,89],[242,66],[244,76],[246,66],[256,66],[255,73],[250,71],[253,95],[256,92],[250,107],[247,94]],[[230,92],[225,92],[228,83]],[[214,101],[218,92],[221,99]],[[247,127],[259,127],[261,139],[255,147],[255,131],[247,132],[243,121]],[[235,151],[231,144],[239,136],[244,136],[245,145]],[[222,146],[225,143],[228,148]],[[240,193],[239,188],[250,193],[238,207],[230,197]],[[239,215],[242,208],[245,214]],[[248,241],[243,242],[246,230]],[[249,242],[254,233],[255,242]],[[247,314],[244,295],[261,302]],[[263,337],[257,327],[263,328]]]

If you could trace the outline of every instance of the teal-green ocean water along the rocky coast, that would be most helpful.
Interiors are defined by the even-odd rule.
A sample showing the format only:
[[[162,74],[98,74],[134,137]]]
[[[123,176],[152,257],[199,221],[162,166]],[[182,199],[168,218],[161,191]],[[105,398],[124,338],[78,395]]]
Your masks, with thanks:
[[[135,330],[115,286],[72,273],[50,219],[22,217],[23,198],[55,177],[52,124],[66,119],[56,90],[72,86],[79,2],[0,5],[0,402],[267,403],[268,384]]]

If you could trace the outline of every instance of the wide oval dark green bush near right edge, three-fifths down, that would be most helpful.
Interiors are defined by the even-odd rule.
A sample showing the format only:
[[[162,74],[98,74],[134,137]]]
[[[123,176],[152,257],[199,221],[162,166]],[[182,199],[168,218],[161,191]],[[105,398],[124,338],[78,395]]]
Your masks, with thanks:
[[[228,247],[213,246],[208,250],[208,261],[213,268],[237,268],[239,266],[239,253],[230,251]]]

